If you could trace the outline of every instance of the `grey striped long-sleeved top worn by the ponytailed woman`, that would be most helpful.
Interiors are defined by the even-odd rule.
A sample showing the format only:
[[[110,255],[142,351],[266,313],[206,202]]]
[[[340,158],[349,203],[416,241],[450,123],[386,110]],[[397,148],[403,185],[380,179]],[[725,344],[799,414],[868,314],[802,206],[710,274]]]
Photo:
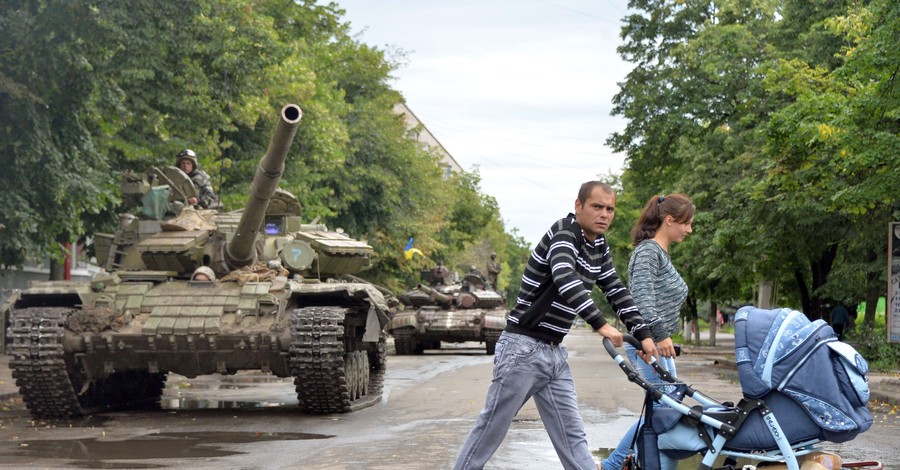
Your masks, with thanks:
[[[650,323],[653,340],[660,342],[678,329],[678,313],[687,298],[687,284],[681,279],[669,254],[658,243],[638,243],[628,261],[628,285],[634,302]]]

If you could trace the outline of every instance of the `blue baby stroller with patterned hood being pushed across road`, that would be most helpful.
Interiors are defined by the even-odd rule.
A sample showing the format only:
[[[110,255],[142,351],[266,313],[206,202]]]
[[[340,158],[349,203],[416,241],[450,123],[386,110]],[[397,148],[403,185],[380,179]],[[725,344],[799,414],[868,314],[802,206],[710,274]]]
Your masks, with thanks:
[[[811,322],[786,308],[743,307],[734,328],[743,391],[737,405],[676,381],[655,362],[657,373],[671,385],[648,383],[604,338],[628,379],[646,390],[644,418],[632,446],[634,467],[658,470],[667,461],[671,465],[701,454],[703,470],[712,469],[720,456],[721,469],[734,469],[743,458],[784,462],[789,470],[799,470],[798,457],[822,451],[817,443],[849,441],[872,425],[868,365],[824,321]],[[625,339],[641,349],[633,337]],[[686,405],[685,397],[698,405]],[[878,462],[844,466],[881,468]]]

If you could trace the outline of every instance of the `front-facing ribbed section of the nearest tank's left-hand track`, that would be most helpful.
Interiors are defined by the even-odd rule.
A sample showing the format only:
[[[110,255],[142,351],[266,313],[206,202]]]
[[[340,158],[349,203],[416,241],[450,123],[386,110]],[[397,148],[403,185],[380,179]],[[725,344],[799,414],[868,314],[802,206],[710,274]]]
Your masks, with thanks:
[[[71,312],[65,307],[32,307],[14,310],[10,316],[9,366],[22,400],[38,419],[88,413],[69,378],[68,369],[74,365],[67,366],[62,345]]]

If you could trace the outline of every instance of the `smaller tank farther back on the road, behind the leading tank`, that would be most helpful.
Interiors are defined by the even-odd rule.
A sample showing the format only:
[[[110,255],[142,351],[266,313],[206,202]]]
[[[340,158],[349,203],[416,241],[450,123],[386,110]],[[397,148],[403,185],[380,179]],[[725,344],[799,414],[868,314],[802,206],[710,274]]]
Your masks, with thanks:
[[[439,349],[442,341],[482,341],[485,352],[494,354],[506,327],[506,308],[500,294],[486,287],[483,277],[467,275],[462,283],[419,284],[401,295],[406,308],[388,326],[397,354]]]

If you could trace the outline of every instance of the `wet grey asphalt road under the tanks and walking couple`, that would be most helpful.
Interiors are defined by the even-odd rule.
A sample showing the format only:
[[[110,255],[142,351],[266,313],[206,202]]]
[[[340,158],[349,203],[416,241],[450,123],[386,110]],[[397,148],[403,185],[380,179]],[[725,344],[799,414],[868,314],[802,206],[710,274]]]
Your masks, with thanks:
[[[578,330],[564,344],[599,459],[637,419],[643,394],[595,334]],[[687,351],[678,361],[679,376],[710,396],[736,401],[736,374],[716,360],[708,351]],[[171,376],[162,410],[103,413],[71,423],[32,420],[20,400],[10,400],[0,412],[0,467],[451,468],[490,379],[483,345],[463,343],[422,356],[391,355],[382,402],[350,414],[303,415],[293,408],[290,381],[258,373]],[[874,411],[870,431],[829,448],[845,461],[877,459],[885,468],[900,468],[894,455],[900,418],[889,409]],[[531,403],[488,468],[561,468]]]

